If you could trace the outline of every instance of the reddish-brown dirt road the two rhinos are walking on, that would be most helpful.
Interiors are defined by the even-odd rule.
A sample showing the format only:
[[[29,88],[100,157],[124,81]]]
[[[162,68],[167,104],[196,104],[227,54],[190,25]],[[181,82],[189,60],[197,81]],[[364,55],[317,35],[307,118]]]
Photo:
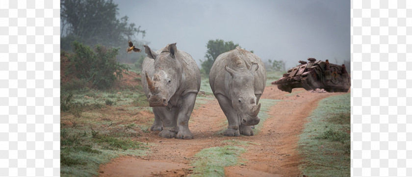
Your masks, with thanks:
[[[298,170],[301,157],[296,148],[298,136],[305,118],[317,103],[329,96],[343,93],[310,93],[304,89],[293,89],[291,94],[268,86],[262,99],[281,100],[270,108],[270,117],[255,136],[226,137],[218,132],[227,125],[226,117],[216,99],[195,109],[190,117],[189,129],[192,140],[166,139],[149,132],[138,137],[138,141],[154,144],[147,156],[127,156],[102,165],[101,177],[183,177],[190,171],[193,156],[202,149],[225,146],[224,140],[256,143],[245,146],[241,154],[244,165],[225,168],[227,177],[300,177]]]

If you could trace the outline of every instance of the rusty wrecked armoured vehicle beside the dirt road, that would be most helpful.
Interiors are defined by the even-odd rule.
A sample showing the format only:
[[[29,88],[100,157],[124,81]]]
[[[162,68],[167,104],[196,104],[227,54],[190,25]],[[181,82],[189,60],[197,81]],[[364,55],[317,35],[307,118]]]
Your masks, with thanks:
[[[315,90],[325,89],[328,92],[347,92],[351,87],[351,79],[344,64],[336,65],[329,60],[322,61],[308,58],[309,62],[299,61],[300,65],[291,68],[279,80],[272,84],[285,92],[293,88]]]

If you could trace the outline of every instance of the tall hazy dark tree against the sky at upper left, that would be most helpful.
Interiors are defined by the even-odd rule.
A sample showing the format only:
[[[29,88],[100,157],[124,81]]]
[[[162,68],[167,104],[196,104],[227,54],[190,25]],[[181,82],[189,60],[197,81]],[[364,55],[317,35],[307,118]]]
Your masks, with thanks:
[[[125,47],[129,39],[135,40],[133,37],[139,33],[143,38],[146,33],[128,23],[127,16],[117,19],[118,8],[113,0],[60,0],[60,8],[61,48],[66,51],[75,40],[89,46]]]

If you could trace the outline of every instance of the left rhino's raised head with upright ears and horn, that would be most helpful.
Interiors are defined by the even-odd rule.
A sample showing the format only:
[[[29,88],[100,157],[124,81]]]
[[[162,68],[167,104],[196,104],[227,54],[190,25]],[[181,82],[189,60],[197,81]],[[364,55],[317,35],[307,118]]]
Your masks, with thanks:
[[[167,106],[180,85],[181,64],[176,59],[176,43],[168,45],[159,54],[146,45],[144,47],[147,56],[154,59],[153,77],[145,73],[149,88],[149,106]]]

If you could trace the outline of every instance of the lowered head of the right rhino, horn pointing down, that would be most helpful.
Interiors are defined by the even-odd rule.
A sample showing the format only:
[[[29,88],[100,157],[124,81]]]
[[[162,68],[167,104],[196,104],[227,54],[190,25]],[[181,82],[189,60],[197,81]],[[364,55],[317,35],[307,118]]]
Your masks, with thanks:
[[[256,104],[254,78],[258,64],[253,63],[250,70],[238,68],[237,71],[225,66],[225,70],[233,77],[231,88],[232,106],[240,117],[242,125],[258,125],[260,119],[260,103]]]

